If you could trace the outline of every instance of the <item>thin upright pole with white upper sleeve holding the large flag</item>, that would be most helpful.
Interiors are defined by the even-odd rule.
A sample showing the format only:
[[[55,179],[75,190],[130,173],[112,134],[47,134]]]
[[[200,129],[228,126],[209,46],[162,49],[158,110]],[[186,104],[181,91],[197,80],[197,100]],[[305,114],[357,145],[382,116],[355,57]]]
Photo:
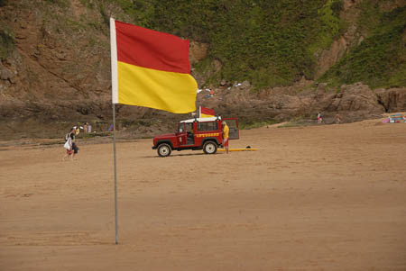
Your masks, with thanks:
[[[117,167],[115,159],[115,104],[118,104],[117,81],[117,43],[115,39],[115,19],[110,18],[110,48],[111,48],[111,91],[113,103],[113,157],[115,164],[115,244],[118,244],[118,208],[117,208]]]

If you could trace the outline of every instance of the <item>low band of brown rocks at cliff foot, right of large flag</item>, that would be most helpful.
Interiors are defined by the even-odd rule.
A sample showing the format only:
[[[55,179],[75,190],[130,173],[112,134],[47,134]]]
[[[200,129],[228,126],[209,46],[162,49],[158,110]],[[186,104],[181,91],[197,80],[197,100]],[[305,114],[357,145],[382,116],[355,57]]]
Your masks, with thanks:
[[[301,92],[272,88],[253,93],[250,86],[243,84],[217,89],[214,97],[200,94],[198,103],[213,108],[219,115],[232,114],[243,122],[282,122],[295,118],[311,122],[318,112],[323,113],[327,123],[334,122],[336,113],[344,122],[355,122],[406,110],[406,88],[373,91],[361,83],[342,86],[334,93],[324,88],[321,85]]]

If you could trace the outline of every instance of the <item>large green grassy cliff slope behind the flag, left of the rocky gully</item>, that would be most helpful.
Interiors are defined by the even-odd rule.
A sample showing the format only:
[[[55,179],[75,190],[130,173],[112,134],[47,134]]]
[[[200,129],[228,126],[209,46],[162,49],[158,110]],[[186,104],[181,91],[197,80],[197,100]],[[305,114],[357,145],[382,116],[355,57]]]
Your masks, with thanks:
[[[86,1],[86,0],[82,0]],[[113,0],[106,0],[112,2]],[[208,59],[222,63],[208,77],[248,80],[256,88],[287,86],[313,78],[316,50],[328,48],[340,32],[343,0],[115,1],[134,23],[208,42]],[[198,63],[198,70],[210,68]]]

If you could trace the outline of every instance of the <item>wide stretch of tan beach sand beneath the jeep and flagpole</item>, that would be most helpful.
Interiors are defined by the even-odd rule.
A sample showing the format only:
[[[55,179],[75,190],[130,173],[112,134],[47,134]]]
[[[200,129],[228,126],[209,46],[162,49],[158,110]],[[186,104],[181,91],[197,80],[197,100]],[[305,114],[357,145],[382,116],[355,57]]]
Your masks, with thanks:
[[[152,140],[0,151],[0,270],[406,270],[406,123],[261,128],[159,158]]]

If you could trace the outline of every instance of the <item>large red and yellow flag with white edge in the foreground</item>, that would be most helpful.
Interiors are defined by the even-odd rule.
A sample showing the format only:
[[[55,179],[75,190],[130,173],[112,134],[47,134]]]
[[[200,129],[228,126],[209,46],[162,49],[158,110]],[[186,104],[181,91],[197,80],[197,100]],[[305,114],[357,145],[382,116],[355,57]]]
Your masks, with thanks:
[[[110,18],[113,104],[196,110],[189,41]]]

